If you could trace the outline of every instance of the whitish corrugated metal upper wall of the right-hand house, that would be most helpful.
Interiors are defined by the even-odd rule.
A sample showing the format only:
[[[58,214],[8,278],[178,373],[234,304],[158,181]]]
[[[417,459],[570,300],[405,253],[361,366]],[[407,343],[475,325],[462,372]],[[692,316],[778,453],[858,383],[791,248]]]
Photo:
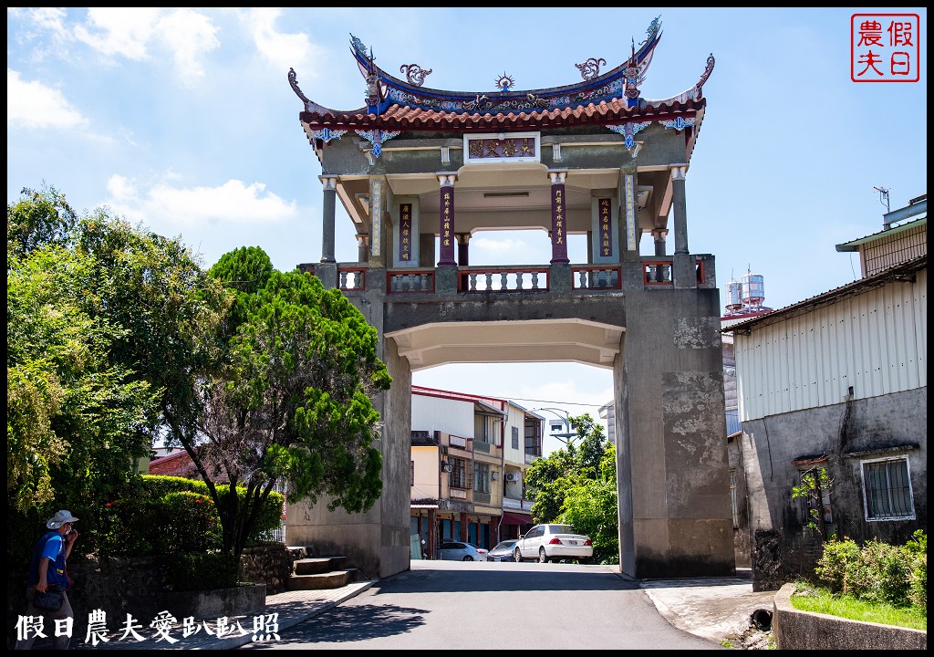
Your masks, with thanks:
[[[734,350],[741,421],[927,386],[927,269],[738,331]]]

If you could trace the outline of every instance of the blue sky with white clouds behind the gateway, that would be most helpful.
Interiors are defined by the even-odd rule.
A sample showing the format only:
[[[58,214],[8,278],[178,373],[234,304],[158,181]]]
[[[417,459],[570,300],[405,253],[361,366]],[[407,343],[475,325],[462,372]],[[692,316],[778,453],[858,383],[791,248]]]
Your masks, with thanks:
[[[850,79],[852,9],[7,8],[7,203],[45,183],[78,211],[108,206],[180,236],[205,266],[240,246],[277,269],[318,262],[320,167],[290,67],[336,109],[364,103],[351,34],[390,73],[431,68],[427,87],[495,91],[503,73],[517,89],[553,87],[591,57],[621,63],[660,16],[644,97],[685,91],[716,59],[686,178],[689,249],[715,255],[721,304],[749,268],[766,305],[784,307],[858,277],[834,246],[881,230],[873,187],[892,209],[927,193],[927,10],[859,11],[920,16],[920,81]],[[357,259],[351,230],[339,215],[338,261]],[[524,262],[509,262],[517,252]],[[547,260],[536,236],[471,242],[471,264]],[[576,364],[446,365],[414,379],[572,414],[596,415],[612,390],[608,370]]]

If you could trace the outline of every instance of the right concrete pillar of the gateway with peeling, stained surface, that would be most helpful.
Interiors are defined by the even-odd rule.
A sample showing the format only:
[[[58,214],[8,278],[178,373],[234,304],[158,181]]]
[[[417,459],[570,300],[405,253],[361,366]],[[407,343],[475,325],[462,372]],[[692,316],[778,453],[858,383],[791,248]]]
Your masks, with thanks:
[[[621,564],[636,578],[735,573],[725,440],[717,290],[630,291],[626,297],[628,451],[617,478],[631,480],[631,518],[620,506]],[[616,388],[621,385],[617,382]],[[622,440],[620,442],[622,442]]]

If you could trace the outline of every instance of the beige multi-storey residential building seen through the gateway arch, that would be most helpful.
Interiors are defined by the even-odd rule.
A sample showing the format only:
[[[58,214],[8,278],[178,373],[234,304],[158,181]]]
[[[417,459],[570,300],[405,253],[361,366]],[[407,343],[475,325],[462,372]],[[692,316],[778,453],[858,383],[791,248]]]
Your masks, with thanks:
[[[525,408],[412,386],[412,545],[431,559],[444,540],[489,549],[517,536],[531,526],[525,470],[541,455],[542,419]]]

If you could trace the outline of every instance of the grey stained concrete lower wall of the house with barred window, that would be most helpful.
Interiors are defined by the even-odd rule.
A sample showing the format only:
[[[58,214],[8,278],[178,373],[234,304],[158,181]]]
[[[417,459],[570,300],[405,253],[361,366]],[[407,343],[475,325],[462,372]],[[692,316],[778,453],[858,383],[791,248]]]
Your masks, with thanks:
[[[791,498],[800,482],[791,462],[802,457],[828,455],[828,529],[836,536],[902,544],[915,529],[927,530],[927,388],[744,421],[741,449],[755,591],[811,577],[821,556],[820,536]],[[866,521],[860,461],[899,454],[908,458],[915,517]]]

